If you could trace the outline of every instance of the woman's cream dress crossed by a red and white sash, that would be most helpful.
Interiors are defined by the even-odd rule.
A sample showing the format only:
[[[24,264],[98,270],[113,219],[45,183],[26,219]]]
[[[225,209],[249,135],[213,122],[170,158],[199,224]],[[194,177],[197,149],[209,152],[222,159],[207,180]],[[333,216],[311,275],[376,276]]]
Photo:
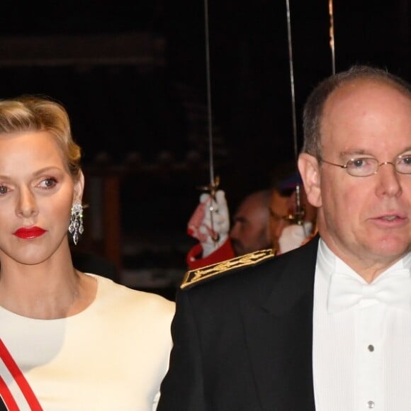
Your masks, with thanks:
[[[174,303],[89,275],[98,281],[96,299],[72,317],[33,320],[0,307],[0,385],[20,410],[30,410],[30,389],[19,385],[19,371],[43,410],[157,407]]]

